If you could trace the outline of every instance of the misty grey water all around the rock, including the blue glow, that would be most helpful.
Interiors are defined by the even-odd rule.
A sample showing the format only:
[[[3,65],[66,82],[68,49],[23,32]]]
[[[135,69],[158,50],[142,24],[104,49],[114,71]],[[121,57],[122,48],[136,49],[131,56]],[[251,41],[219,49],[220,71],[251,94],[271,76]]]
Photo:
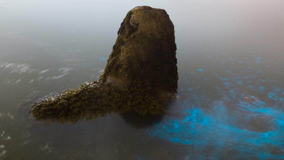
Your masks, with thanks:
[[[282,1],[75,2],[0,7],[0,159],[284,158]],[[102,74],[139,5],[175,25],[179,98],[168,113],[36,121],[34,101]]]

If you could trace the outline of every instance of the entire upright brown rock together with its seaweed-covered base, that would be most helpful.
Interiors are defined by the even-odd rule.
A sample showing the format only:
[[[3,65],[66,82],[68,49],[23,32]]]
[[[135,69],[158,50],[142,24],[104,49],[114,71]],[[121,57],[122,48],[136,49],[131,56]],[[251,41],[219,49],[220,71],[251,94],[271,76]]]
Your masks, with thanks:
[[[130,10],[100,79],[35,104],[36,119],[75,122],[110,112],[165,112],[177,90],[174,26],[163,9]]]

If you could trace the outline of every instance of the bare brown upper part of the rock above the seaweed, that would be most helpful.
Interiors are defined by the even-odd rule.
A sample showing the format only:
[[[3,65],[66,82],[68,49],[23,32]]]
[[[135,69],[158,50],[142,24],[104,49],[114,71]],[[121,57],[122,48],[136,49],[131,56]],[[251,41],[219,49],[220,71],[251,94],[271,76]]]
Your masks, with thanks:
[[[174,26],[166,11],[135,7],[121,23],[104,77],[121,89],[140,85],[175,92],[175,51]]]

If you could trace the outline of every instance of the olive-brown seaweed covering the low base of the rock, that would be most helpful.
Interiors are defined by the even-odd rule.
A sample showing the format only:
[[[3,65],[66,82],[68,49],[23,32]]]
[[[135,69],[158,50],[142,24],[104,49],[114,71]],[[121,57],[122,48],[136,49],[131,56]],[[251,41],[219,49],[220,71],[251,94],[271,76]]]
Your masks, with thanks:
[[[35,104],[31,112],[38,120],[55,119],[62,123],[95,119],[111,112],[161,115],[165,108],[157,98],[150,89],[135,87],[122,91],[100,78],[49,97]]]

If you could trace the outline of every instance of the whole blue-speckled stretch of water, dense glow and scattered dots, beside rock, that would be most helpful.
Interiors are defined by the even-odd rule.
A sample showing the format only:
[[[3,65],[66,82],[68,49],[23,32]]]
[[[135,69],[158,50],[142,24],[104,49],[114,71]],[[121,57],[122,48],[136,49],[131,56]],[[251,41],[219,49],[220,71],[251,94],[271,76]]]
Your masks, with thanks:
[[[268,58],[251,57],[211,57],[218,70],[203,66],[206,74],[198,69],[180,77],[173,113],[146,132],[188,146],[188,158],[219,159],[229,152],[234,159],[283,159],[283,84],[267,76],[282,73]]]

